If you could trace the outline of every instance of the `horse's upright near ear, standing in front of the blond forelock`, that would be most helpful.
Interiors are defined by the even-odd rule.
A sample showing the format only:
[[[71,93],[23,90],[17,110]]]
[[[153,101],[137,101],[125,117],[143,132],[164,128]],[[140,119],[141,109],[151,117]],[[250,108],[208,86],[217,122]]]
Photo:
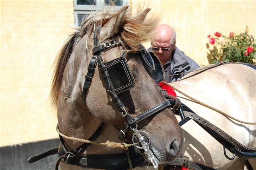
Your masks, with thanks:
[[[111,18],[103,27],[100,32],[100,37],[105,37],[107,34],[107,38],[113,37],[117,33],[119,33],[120,28],[123,25],[123,22],[126,18],[126,11],[129,6],[122,7],[116,14],[115,17]],[[105,29],[104,29],[105,28]],[[105,35],[105,36],[104,36]]]

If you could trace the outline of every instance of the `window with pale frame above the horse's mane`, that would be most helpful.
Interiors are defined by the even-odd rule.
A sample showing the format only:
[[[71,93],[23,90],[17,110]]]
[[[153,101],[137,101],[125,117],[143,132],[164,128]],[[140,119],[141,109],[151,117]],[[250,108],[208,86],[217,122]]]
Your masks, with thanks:
[[[102,9],[103,6],[112,5],[112,1],[116,11],[128,5],[128,0],[74,0],[75,26],[81,26],[84,17],[86,18],[93,11]]]

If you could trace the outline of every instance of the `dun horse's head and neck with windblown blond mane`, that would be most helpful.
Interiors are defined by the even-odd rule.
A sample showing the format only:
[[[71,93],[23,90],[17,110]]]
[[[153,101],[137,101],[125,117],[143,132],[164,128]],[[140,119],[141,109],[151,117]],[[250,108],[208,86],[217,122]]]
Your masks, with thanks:
[[[150,9],[131,15],[127,8],[128,6],[125,6],[119,12],[103,11],[91,14],[83,22],[81,28],[70,35],[57,56],[51,98],[57,106],[59,130],[66,136],[88,139],[104,122],[103,129],[94,142],[108,140],[123,142],[117,138],[117,135],[128,122],[123,117],[125,115],[120,114],[120,110],[117,109],[113,101],[116,96],[109,95],[105,84],[106,77],[103,77],[102,74],[104,70],[99,69],[99,64],[95,68],[90,86],[85,94],[85,102],[82,99],[85,75],[88,73],[87,68],[90,59],[94,55],[92,49],[95,47],[95,37],[98,39],[96,46],[102,43],[106,45],[112,40],[118,42],[112,44],[107,50],[102,50],[101,55],[97,56],[102,59],[104,64],[119,58],[122,52],[129,52],[125,60],[135,85],[118,94],[125,106],[121,109],[135,118],[165,101],[148,71],[150,68],[147,68],[141,53],[138,53],[141,51],[140,43],[150,39],[152,31],[158,23],[158,18],[146,18]],[[97,32],[97,28],[100,28],[99,32]],[[124,63],[126,61],[123,59]],[[118,73],[116,72],[116,74]],[[119,79],[120,83],[122,81],[124,80]],[[136,136],[137,141],[140,140],[141,142],[142,139],[149,145],[147,152],[151,153],[151,158],[145,153],[146,150],[137,149],[147,161],[155,160],[152,162],[153,164],[162,164],[172,161],[179,155],[184,144],[184,138],[177,119],[170,109],[165,108],[160,113],[147,116],[137,123],[137,129],[147,132],[147,135],[140,139]],[[129,143],[133,143],[134,130],[135,127],[133,126],[126,133],[125,137]],[[64,145],[67,150],[75,150],[82,144],[82,142],[64,138]],[[63,149],[63,145],[60,145],[60,148]],[[82,155],[113,155],[118,153],[124,153],[124,150],[92,144]],[[101,164],[102,162],[97,163]],[[80,168],[65,162],[61,162],[59,166],[61,169]],[[91,169],[89,165],[87,168]]]

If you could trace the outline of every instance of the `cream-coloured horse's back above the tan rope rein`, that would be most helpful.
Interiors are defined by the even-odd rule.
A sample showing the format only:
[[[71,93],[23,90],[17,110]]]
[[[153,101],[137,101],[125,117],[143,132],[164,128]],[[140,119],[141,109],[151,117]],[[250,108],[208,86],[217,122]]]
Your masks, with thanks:
[[[241,64],[224,64],[194,74],[171,85],[213,107],[223,107],[222,111],[231,116],[240,113],[245,122],[255,122],[256,117],[247,116],[256,112],[256,70]]]

